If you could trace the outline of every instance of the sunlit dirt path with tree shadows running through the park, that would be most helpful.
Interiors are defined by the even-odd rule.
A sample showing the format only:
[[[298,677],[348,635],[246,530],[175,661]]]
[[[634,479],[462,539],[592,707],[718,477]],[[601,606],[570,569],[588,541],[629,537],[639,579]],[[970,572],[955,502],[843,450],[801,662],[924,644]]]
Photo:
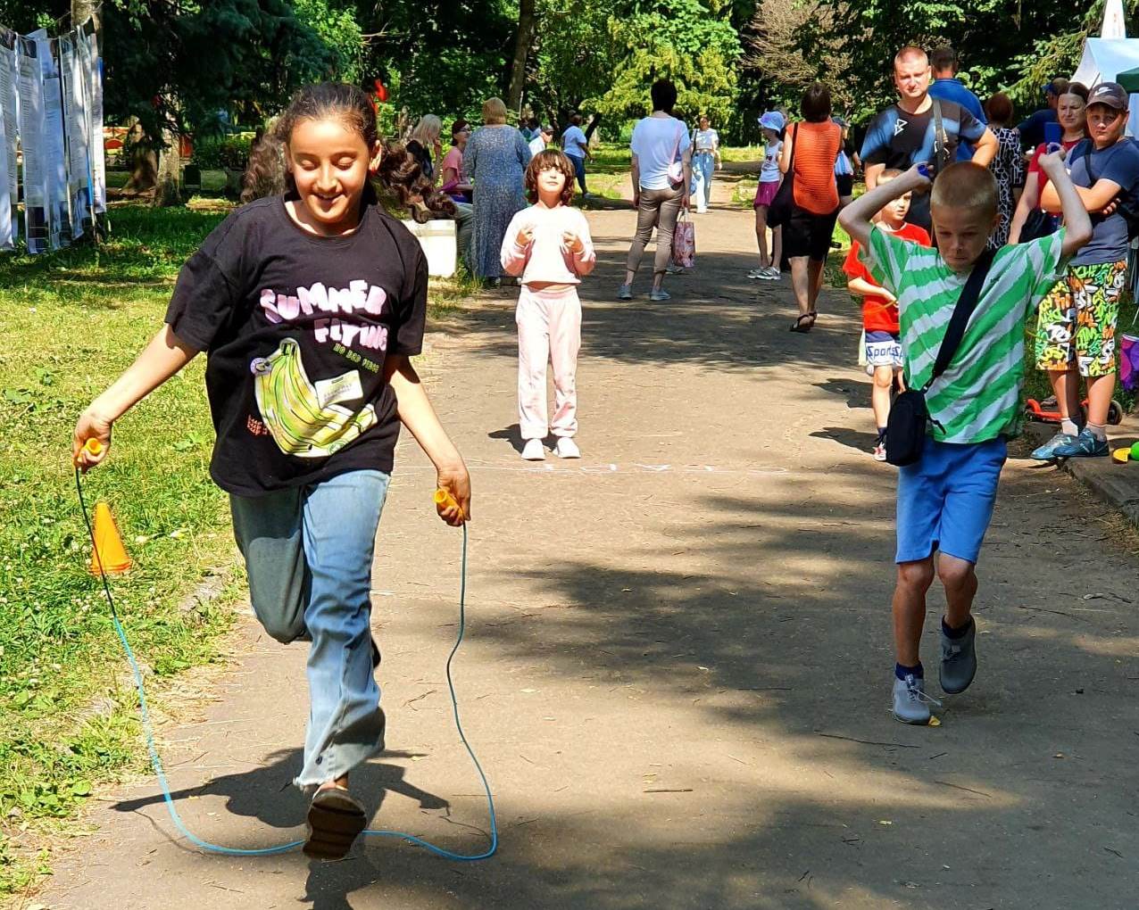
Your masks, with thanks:
[[[816,331],[788,333],[786,280],[744,277],[751,213],[723,206],[697,218],[698,268],[669,280],[673,301],[650,304],[645,278],[617,304],[633,216],[590,221],[601,262],[583,286],[581,462],[528,467],[511,446],[511,295],[435,335],[428,361],[476,484],[457,682],[498,856],[459,864],[394,841],[334,864],[206,855],[174,836],[147,780],[109,795],[39,900],[1133,908],[1137,575],[1111,517],[1051,469],[1010,461],[980,568],[977,681],[940,728],[896,723],[894,472],[867,454],[853,305],[829,294]],[[401,450],[375,576],[392,752],[359,784],[377,825],[473,852],[486,810],[442,674],[459,539],[434,519],[423,457]],[[261,846],[302,830],[288,780],[304,650],[253,625],[243,640],[218,703],[166,730],[166,752],[194,830]]]

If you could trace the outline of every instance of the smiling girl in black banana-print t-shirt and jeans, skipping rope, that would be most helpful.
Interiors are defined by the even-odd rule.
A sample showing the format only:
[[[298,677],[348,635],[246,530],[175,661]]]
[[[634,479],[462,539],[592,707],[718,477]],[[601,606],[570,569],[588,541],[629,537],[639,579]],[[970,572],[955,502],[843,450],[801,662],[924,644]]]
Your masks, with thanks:
[[[384,748],[369,591],[400,424],[452,497],[449,525],[470,517],[470,478],[410,362],[427,263],[377,205],[368,96],[310,85],[276,129],[285,194],[238,208],[187,261],[165,325],[79,418],[73,457],[82,470],[101,462],[114,423],[206,352],[210,473],[230,494],[253,609],[278,641],[311,641],[294,780],[312,794],[304,852],[339,859],[367,822],[349,773]]]

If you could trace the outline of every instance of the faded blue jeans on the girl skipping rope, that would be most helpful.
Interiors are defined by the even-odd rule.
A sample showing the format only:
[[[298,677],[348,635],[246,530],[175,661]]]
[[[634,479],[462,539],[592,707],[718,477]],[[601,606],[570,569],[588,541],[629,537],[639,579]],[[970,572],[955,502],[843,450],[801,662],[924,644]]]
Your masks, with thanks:
[[[263,497],[230,497],[257,620],[278,641],[312,641],[298,787],[346,774],[384,748],[369,593],[390,479],[353,470]]]

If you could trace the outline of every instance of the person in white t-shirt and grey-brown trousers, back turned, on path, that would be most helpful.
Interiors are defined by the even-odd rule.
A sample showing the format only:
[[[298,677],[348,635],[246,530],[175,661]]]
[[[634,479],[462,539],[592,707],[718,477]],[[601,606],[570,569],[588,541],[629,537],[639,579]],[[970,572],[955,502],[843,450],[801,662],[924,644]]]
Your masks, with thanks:
[[[693,182],[691,140],[688,129],[672,116],[677,87],[666,79],[650,89],[653,113],[638,121],[632,140],[633,205],[637,206],[637,236],[625,260],[625,280],[617,300],[633,298],[632,284],[645,247],[656,228],[656,255],[653,259],[653,288],[649,300],[666,301],[664,276],[672,257],[672,235],[681,208],[688,210],[688,188]]]

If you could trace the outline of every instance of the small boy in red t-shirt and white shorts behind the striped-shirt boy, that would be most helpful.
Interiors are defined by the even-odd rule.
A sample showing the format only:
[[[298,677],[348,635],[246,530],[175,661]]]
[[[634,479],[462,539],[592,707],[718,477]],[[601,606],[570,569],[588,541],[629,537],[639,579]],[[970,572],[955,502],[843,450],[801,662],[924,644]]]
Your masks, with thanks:
[[[878,182],[893,180],[895,177],[901,177],[901,173],[896,170],[883,171]],[[907,192],[888,203],[878,213],[878,226],[883,230],[896,233],[904,240],[929,246],[929,235],[917,224],[906,222],[906,215],[909,211],[910,194]],[[875,281],[870,271],[862,264],[859,259],[858,240],[851,241],[851,252],[846,254],[843,271],[850,278],[846,287],[851,294],[862,297],[867,372],[874,377],[870,407],[874,409],[874,424],[878,428],[874,460],[885,461],[890,393],[894,386],[894,377],[898,377],[899,384],[902,383],[902,345],[900,341],[901,326],[898,322],[898,300]]]

